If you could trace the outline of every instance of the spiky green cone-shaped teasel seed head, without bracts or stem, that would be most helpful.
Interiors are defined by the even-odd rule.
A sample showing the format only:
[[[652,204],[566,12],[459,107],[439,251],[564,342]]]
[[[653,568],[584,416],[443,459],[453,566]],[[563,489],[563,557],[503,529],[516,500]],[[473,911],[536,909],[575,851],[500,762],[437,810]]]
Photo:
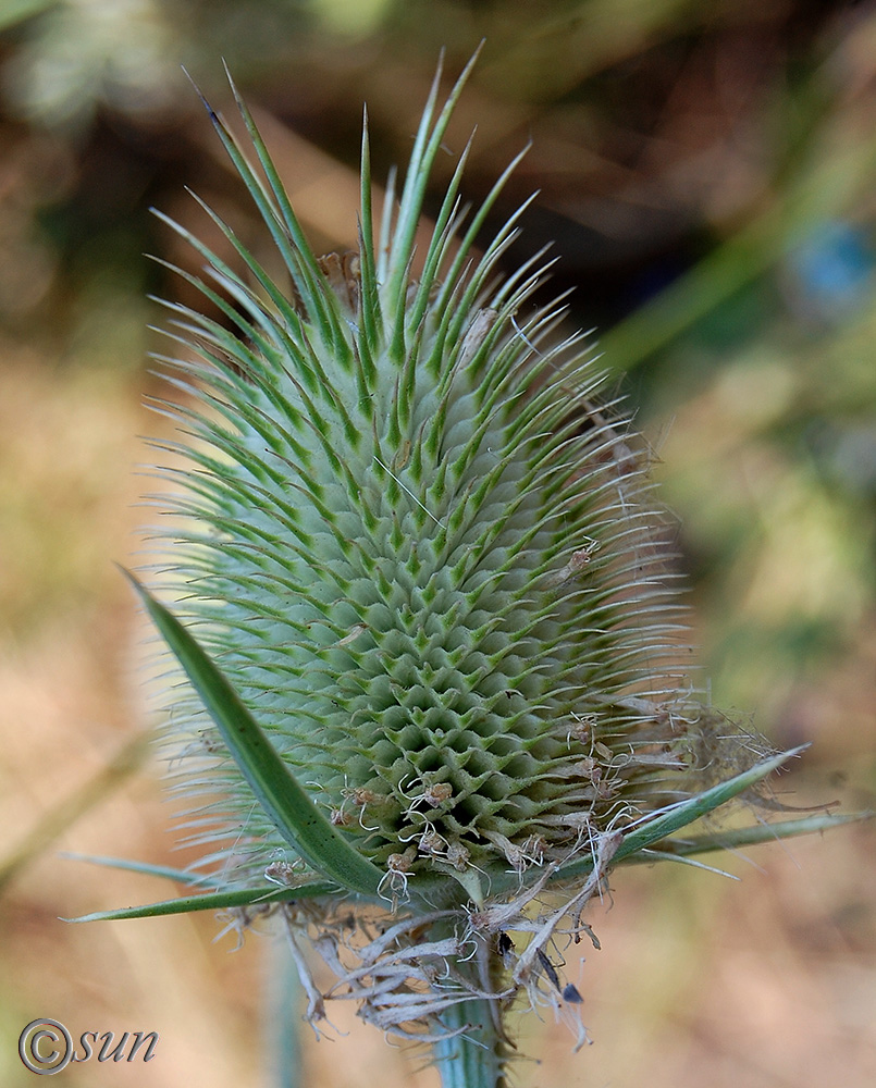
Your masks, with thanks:
[[[460,88],[439,115],[433,88],[377,238],[363,141],[359,251],[320,259],[245,108],[252,166],[213,115],[288,281],[222,223],[239,274],[186,235],[219,316],[173,307],[198,360],[168,360],[196,405],[173,408],[177,607],[317,805],[411,889],[559,861],[737,759],[673,673],[676,591],[628,422],[532,301],[541,270],[497,276],[517,214],[472,249],[504,178],[466,219],[464,156],[411,271]],[[231,880],[304,879],[199,707],[171,722],[177,788],[207,795],[194,837]]]

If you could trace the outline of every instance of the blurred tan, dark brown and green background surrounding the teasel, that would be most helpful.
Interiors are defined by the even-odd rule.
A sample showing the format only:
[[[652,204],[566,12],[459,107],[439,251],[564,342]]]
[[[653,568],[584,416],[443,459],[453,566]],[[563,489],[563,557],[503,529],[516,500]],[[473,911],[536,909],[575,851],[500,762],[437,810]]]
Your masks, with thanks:
[[[455,76],[482,37],[448,146],[478,126],[477,200],[532,140],[494,225],[540,190],[508,264],[553,242],[548,289],[575,288],[570,321],[645,435],[703,685],[776,745],[812,742],[788,803],[873,806],[876,4],[0,0],[5,1086],[33,1084],[16,1042],[39,1016],[160,1035],[150,1063],[71,1065],[71,1086],[437,1083],[353,1010],[332,1011],[335,1041],[294,1010],[266,1027],[284,985],[268,934],[231,954],[212,916],[58,919],[175,893],[62,851],[187,860],[112,566],[138,561],[151,517],[137,436],[170,433],[141,407],[164,349],[148,296],[190,300],[144,255],[192,262],[151,206],[211,236],[185,186],[244,236],[257,224],[182,66],[231,114],[224,59],[328,251],[355,238],[363,100],[382,180],[441,48]],[[720,860],[740,881],[615,873],[590,917],[603,950],[567,968],[595,1046],[575,1055],[528,1017],[516,1083],[876,1083],[875,846],[864,824]]]

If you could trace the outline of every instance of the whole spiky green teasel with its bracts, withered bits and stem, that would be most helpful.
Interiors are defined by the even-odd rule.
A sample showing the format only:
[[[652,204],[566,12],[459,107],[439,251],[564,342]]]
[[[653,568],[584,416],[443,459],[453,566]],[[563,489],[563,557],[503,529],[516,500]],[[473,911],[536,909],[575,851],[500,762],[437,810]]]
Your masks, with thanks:
[[[353,1000],[431,1048],[444,1088],[505,1083],[515,1005],[588,1041],[560,964],[597,945],[585,908],[615,867],[850,818],[784,811],[768,779],[800,750],[679,666],[646,446],[562,300],[535,300],[544,255],[499,273],[527,205],[477,248],[519,157],[472,210],[466,147],[417,245],[473,63],[443,107],[439,69],[380,217],[366,122],[356,252],[313,254],[236,90],[244,138],[207,106],[283,275],[207,206],[234,258],[166,220],[212,316],[165,304],[157,406],[181,441],[157,445],[185,467],[149,588],[128,577],[171,663],[162,737],[200,858],[111,862],[188,893],[87,918],[273,916],[317,1033]],[[781,817],[723,828],[735,799]]]

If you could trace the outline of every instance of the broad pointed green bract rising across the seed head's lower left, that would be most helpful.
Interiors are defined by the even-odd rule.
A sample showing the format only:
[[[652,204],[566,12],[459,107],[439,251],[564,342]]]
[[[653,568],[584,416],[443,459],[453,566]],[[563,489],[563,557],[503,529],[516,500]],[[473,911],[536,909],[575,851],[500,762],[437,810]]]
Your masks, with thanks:
[[[173,614],[127,571],[146,610],[173,651],[240,774],[277,831],[321,876],[375,897],[383,874],[329,823],[244,706],[239,695]]]

